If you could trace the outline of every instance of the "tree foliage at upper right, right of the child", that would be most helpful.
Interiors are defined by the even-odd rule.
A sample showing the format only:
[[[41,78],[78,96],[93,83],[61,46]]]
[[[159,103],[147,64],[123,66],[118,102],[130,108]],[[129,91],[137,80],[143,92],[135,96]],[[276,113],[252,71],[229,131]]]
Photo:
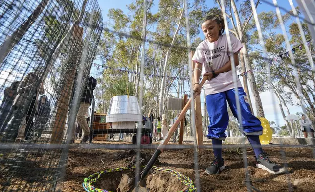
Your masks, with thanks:
[[[292,47],[300,45],[302,43],[301,34],[298,28],[298,25],[294,22],[292,13],[286,13],[283,15],[283,20],[285,25],[288,28],[290,34],[290,42]],[[296,90],[296,82],[294,76],[294,66],[291,63],[290,58],[287,55],[282,55],[282,57],[278,57],[278,55],[287,52],[284,36],[279,34],[279,21],[277,15],[274,11],[261,12],[259,15],[260,24],[263,32],[263,39],[265,41],[265,48],[267,51],[268,60],[265,60],[262,55],[264,53],[259,47],[260,40],[258,37],[257,30],[252,30],[252,36],[250,37],[250,43],[256,48],[257,52],[251,52],[251,60],[255,63],[254,71],[255,71],[255,79],[259,88],[259,91],[267,91],[269,89],[275,89],[279,92],[286,100],[286,102],[293,104],[292,95],[298,96]],[[254,23],[254,22],[253,22]],[[302,23],[303,33],[307,39],[311,38],[310,32],[308,30],[307,24]],[[312,45],[313,47],[313,45]],[[311,49],[312,49],[311,47]],[[296,63],[296,67],[298,68],[299,79],[303,88],[303,95],[307,98],[309,96],[314,97],[314,89],[311,89],[308,83],[312,84],[312,74],[311,68],[306,56],[306,51],[304,46],[301,48],[295,48],[294,50],[294,60]],[[273,60],[276,58],[276,60]],[[270,59],[272,63],[270,65]],[[271,80],[272,85],[267,84],[268,71],[267,66],[270,65],[271,72]],[[308,82],[308,83],[307,83]],[[314,84],[314,81],[313,81]],[[290,90],[289,92],[286,90]],[[306,100],[307,103],[312,106],[310,100]],[[294,103],[295,104],[295,103]],[[297,103],[298,104],[298,103]],[[299,105],[299,104],[298,104]],[[312,109],[309,109],[312,111]],[[314,113],[314,112],[313,112]]]

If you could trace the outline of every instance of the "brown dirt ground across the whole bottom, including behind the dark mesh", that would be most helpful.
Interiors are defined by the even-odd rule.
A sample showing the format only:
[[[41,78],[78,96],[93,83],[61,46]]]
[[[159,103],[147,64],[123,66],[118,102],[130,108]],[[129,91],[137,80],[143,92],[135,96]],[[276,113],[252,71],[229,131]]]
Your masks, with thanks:
[[[94,142],[93,146],[104,146],[101,143],[102,142]],[[118,146],[118,144],[130,143],[111,141],[107,142],[107,144]],[[82,146],[82,144],[78,143],[71,144],[71,148],[68,152],[65,177],[63,181],[58,182],[57,191],[83,192],[82,183],[84,178],[91,174],[135,163],[135,150],[87,149]],[[248,170],[252,186],[262,192],[287,192],[289,191],[289,183],[291,183],[290,187],[294,192],[315,192],[315,159],[312,154],[313,149],[314,148],[311,147],[286,148],[285,155],[289,174],[272,175],[264,170],[255,168],[254,153],[251,148],[248,148]],[[278,146],[265,147],[264,150],[275,162],[280,164],[284,163],[284,160],[280,156],[280,148]],[[141,163],[143,165],[151,158],[154,151],[154,149],[141,150]],[[28,157],[30,157],[30,155],[28,155]],[[5,178],[1,178],[2,174],[0,174],[0,191],[6,191],[8,189],[34,192],[47,191],[45,189],[49,189],[48,191],[50,191],[51,188],[45,184],[47,183],[45,181],[53,181],[55,176],[57,178],[60,177],[60,175],[55,175],[55,173],[52,172],[52,165],[54,165],[55,169],[60,168],[58,167],[60,160],[56,160],[56,162],[53,163],[49,161],[51,157],[51,152],[47,153],[42,151],[41,153],[34,153],[33,159],[24,160],[24,165],[19,169],[18,176],[12,179],[9,187],[5,186]],[[55,157],[55,159],[59,159],[57,155]],[[246,191],[244,184],[245,169],[243,156],[238,154],[236,150],[229,153],[224,149],[223,157],[225,159],[226,169],[218,175],[207,175],[204,170],[213,160],[213,151],[212,149],[203,149],[199,152],[198,170],[201,192]],[[193,149],[167,150],[159,156],[156,166],[178,171],[190,177],[194,183],[196,181]],[[51,168],[51,170],[47,169],[47,167]],[[49,178],[45,178],[48,177],[46,173],[50,173]],[[108,173],[102,175],[94,186],[115,192],[132,192],[134,190],[132,186],[134,177],[134,169]],[[40,180],[38,178],[40,178]],[[180,183],[177,178],[171,174],[156,170],[149,173],[146,182],[147,189],[150,189],[150,192],[176,192],[187,189],[185,185]],[[122,183],[124,183],[124,185],[122,185]],[[47,188],[43,188],[43,184],[47,185]],[[147,189],[144,191],[147,192]]]

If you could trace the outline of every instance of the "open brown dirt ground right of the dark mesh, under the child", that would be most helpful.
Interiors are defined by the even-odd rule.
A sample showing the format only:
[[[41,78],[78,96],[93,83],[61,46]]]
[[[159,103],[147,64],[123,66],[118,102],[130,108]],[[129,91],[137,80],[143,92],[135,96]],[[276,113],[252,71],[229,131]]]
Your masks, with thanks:
[[[120,144],[123,143],[124,142],[120,142]],[[275,162],[280,164],[284,163],[280,156],[280,148],[278,146],[275,146],[274,148],[268,147],[264,150]],[[146,158],[150,158],[154,153],[154,150],[141,150],[141,152]],[[213,151],[209,149],[202,150],[198,154],[201,191],[246,191],[246,186],[244,184],[245,169],[243,156],[238,154],[236,151],[232,151],[231,153],[224,151],[223,157],[225,159],[226,169],[219,175],[207,175],[204,170],[213,160],[212,152]],[[252,186],[263,192],[284,192],[288,191],[290,181],[293,191],[315,192],[315,159],[313,158],[312,148],[287,148],[285,149],[285,154],[288,163],[289,175],[272,175],[267,171],[255,168],[254,153],[250,148],[248,148],[248,170],[252,180]],[[133,150],[71,149],[69,151],[70,161],[68,161],[65,181],[61,182],[58,187],[63,189],[63,191],[68,192],[82,191],[82,182],[85,177],[88,177],[97,171],[126,166],[131,162],[134,155],[135,151]],[[160,155],[157,166],[159,168],[168,168],[178,171],[190,177],[193,181],[196,180],[193,149],[165,151]],[[129,176],[129,178],[133,178],[135,176],[134,170],[125,171],[124,173],[108,173],[102,175],[94,186],[101,189],[106,189],[106,187],[108,187],[112,189],[106,190],[117,191],[117,189],[113,189],[114,185],[109,186],[107,184],[112,180],[116,180],[116,185],[119,184],[123,174],[125,174],[124,177]],[[174,185],[182,187],[180,186],[180,182],[177,181],[177,179],[172,180],[173,176],[167,175],[168,173],[163,173],[162,180],[160,176],[161,173],[153,171],[150,174],[158,174],[158,176],[151,178],[153,179],[151,182],[160,182],[160,185],[165,187],[163,190],[153,190],[150,188],[150,192],[171,191],[171,188],[174,187]],[[118,189],[118,191],[121,190]]]

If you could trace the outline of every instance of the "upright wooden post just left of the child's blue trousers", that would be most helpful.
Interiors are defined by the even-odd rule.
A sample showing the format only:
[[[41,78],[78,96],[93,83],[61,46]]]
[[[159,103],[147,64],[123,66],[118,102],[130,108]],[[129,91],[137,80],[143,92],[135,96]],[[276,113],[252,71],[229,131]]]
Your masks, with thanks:
[[[191,57],[194,55],[194,51],[191,51]],[[195,62],[192,61],[192,69],[194,71],[195,69]],[[194,79],[194,73],[192,73],[193,83],[195,83]],[[201,114],[201,102],[200,102],[200,96],[197,96],[195,98],[195,127],[196,127],[196,137],[197,137],[197,145],[203,146],[203,120],[202,120],[202,114]]]

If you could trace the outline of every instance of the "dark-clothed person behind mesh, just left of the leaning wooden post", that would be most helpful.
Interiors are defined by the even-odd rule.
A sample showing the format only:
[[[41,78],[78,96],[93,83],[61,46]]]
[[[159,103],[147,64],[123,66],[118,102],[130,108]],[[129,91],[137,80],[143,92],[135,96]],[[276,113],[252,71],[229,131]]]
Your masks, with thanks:
[[[35,114],[34,131],[37,132],[37,137],[41,137],[45,125],[49,120],[51,108],[46,95],[40,96],[38,100],[38,112]]]

